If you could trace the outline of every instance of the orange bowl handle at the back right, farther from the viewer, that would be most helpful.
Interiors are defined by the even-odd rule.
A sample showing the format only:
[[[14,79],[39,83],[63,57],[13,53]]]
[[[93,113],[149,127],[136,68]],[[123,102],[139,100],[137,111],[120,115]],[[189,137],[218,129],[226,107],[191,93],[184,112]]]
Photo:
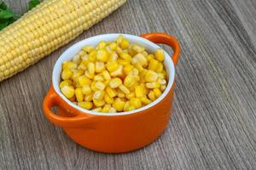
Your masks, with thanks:
[[[173,50],[172,60],[174,65],[175,66],[177,65],[177,61],[179,59],[180,47],[175,37],[172,37],[171,35],[168,35],[166,33],[161,33],[161,32],[147,33],[147,34],[141,35],[141,37],[148,39],[150,42],[163,43],[172,47],[172,50]]]

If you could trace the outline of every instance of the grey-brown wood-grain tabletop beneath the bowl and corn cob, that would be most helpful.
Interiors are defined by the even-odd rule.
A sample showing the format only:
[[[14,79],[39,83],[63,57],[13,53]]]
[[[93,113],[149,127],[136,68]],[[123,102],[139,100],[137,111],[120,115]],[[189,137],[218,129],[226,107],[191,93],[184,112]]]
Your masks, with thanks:
[[[20,14],[28,0],[6,0]],[[60,54],[103,33],[168,32],[181,44],[170,122],[127,154],[86,150],[43,115]],[[169,53],[172,51],[166,48]],[[0,169],[256,169],[256,1],[128,0],[107,19],[0,82]]]

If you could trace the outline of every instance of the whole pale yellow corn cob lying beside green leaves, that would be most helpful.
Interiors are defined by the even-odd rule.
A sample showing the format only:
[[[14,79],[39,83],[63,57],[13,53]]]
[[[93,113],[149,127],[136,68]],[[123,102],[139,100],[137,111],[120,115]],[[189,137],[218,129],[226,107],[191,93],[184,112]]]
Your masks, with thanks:
[[[126,0],[45,0],[0,31],[0,82],[95,25]]]

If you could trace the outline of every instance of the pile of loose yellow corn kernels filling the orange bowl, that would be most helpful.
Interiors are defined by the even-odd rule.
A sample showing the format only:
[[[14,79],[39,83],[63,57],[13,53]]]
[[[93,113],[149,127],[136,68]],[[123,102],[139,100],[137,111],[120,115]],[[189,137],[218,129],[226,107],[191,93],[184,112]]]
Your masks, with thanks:
[[[84,46],[62,64],[61,93],[96,112],[133,111],[153,102],[166,89],[163,49],[148,54],[120,35],[113,42]]]

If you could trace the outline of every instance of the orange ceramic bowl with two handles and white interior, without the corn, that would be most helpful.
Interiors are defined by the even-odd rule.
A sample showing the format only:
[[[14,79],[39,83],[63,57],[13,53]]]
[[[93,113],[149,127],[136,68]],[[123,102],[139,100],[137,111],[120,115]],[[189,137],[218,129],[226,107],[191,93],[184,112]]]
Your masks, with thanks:
[[[74,105],[61,94],[59,83],[62,62],[72,59],[84,45],[96,46],[100,41],[113,41],[119,34],[87,38],[61,54],[55,63],[52,86],[44,99],[44,114],[49,121],[62,127],[71,139],[90,150],[119,153],[142,148],[160,136],[171,116],[175,65],[180,51],[177,40],[165,33],[149,33],[141,37],[123,35],[129,41],[143,45],[151,53],[160,48],[155,43],[164,43],[172,47],[172,58],[165,52],[164,61],[168,84],[158,99],[134,111],[98,113]],[[56,114],[50,110],[54,106],[58,110]]]

